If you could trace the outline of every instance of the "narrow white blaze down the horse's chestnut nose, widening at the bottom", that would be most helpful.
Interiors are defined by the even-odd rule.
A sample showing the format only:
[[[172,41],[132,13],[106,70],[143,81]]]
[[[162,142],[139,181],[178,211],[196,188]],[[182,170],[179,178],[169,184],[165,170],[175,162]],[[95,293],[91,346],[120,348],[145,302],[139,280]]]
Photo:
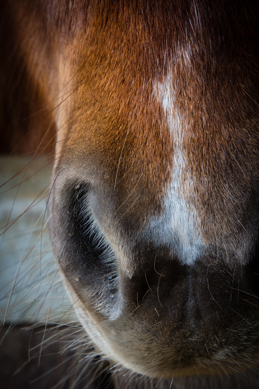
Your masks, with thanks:
[[[157,84],[156,94],[173,136],[172,179],[162,200],[163,212],[152,219],[149,234],[157,244],[168,245],[172,256],[183,264],[192,265],[202,247],[201,223],[192,202],[186,201],[193,193],[193,177],[184,151],[185,123],[177,112],[170,75]]]

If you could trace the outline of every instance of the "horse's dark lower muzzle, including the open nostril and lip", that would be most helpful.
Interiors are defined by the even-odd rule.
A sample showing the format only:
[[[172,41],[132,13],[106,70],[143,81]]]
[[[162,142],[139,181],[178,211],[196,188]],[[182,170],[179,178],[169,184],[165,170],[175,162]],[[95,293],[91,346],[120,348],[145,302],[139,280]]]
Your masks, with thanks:
[[[203,258],[188,266],[149,247],[145,263],[156,257],[155,271],[142,266],[129,277],[92,226],[91,186],[73,181],[63,190],[54,207],[54,251],[82,326],[111,364],[170,378],[231,374],[257,363],[255,259],[235,268]]]

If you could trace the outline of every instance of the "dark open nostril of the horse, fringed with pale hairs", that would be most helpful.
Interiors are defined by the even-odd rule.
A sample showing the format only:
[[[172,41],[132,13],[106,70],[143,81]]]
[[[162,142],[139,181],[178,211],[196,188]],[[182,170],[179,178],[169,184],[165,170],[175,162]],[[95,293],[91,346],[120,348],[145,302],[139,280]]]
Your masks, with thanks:
[[[98,310],[110,315],[119,298],[119,272],[114,250],[91,211],[93,194],[86,182],[73,181],[54,196],[54,250],[77,294],[89,301],[94,295]]]

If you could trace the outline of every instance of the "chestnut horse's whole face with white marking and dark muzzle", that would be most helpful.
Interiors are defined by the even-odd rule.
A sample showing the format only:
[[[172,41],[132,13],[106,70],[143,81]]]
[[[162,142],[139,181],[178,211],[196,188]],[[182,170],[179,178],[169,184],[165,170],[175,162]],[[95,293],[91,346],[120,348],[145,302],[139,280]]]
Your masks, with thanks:
[[[21,47],[52,104],[49,225],[89,338],[150,377],[256,366],[255,11],[40,4]]]

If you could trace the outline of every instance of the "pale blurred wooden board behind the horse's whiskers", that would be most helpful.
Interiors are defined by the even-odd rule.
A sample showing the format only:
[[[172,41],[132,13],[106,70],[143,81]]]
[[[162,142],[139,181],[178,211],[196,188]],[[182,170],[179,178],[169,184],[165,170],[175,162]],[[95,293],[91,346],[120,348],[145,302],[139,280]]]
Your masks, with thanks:
[[[47,230],[52,160],[0,158],[0,322],[73,321]]]

